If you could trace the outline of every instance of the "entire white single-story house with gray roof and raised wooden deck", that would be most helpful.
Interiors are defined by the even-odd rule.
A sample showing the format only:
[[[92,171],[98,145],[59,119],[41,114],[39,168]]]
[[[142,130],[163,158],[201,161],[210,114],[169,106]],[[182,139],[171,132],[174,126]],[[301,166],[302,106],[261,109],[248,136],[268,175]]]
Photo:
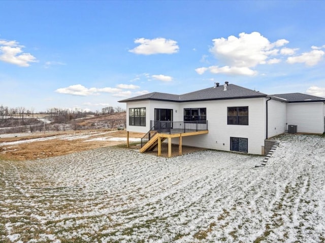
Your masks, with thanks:
[[[143,144],[143,151],[168,138],[169,147],[174,143],[264,154],[265,140],[286,132],[289,125],[299,133],[325,130],[324,98],[266,95],[228,82],[183,95],[154,92],[119,102],[126,103],[126,130],[147,133],[146,142],[157,140]]]

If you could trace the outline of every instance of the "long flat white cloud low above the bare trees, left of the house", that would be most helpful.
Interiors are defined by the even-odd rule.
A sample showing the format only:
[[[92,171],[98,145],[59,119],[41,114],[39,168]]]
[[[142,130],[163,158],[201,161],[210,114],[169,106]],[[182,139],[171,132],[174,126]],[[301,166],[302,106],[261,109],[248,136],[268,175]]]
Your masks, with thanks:
[[[120,89],[117,88],[86,88],[83,85],[71,85],[67,88],[60,88],[55,90],[55,92],[60,94],[69,94],[69,95],[79,95],[79,96],[88,96],[88,95],[99,95],[99,93],[116,93],[120,92]]]

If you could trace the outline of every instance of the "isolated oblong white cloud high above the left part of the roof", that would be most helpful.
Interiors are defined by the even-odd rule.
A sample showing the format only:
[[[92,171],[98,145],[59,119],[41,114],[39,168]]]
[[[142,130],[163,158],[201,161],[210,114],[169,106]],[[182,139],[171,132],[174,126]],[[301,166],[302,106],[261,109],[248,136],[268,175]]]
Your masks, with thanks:
[[[155,38],[145,39],[138,38],[135,40],[136,44],[140,44],[138,47],[129,50],[129,52],[135,54],[152,55],[152,54],[173,54],[177,53],[179,47],[177,42],[172,39]]]

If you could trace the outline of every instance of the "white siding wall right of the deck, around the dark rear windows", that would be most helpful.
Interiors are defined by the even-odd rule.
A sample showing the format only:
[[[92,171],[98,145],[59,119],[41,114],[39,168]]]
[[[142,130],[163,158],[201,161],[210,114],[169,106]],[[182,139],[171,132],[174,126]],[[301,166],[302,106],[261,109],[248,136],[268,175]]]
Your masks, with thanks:
[[[248,139],[248,153],[261,154],[265,139],[265,99],[231,99],[180,103],[184,108],[207,108],[208,134],[183,137],[183,145],[230,151],[230,137]],[[248,106],[249,125],[227,125],[228,107]],[[178,139],[173,139],[178,143]]]

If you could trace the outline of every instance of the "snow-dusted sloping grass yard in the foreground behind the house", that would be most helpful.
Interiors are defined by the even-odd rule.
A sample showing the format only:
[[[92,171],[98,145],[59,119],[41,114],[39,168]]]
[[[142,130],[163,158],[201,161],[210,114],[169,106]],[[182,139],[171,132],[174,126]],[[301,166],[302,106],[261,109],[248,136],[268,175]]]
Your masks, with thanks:
[[[116,147],[0,161],[1,242],[324,242],[325,137],[268,160]]]

